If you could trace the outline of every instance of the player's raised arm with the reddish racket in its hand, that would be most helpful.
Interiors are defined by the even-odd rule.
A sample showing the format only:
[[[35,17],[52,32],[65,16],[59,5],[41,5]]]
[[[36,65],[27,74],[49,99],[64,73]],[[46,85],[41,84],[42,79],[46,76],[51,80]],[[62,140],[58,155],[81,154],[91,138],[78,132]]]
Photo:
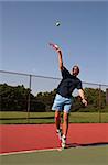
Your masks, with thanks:
[[[52,43],[50,43],[50,46],[52,46],[57,52],[57,54],[58,54],[58,67],[61,70],[63,70],[64,66],[63,66],[63,57],[62,57],[61,48],[58,47],[58,45],[52,44]]]

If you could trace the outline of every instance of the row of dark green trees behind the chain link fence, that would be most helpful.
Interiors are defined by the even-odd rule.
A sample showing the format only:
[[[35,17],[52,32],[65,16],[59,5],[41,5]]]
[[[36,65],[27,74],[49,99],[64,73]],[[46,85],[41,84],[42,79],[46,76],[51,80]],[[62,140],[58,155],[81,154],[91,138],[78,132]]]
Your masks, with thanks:
[[[106,92],[100,89],[85,88],[85,95],[88,100],[88,109],[97,111],[98,108],[106,106]],[[0,85],[0,110],[1,111],[26,111],[30,106],[30,111],[51,111],[56,89],[53,91],[42,92],[36,96],[32,95],[29,88],[24,86]],[[87,111],[80,98],[73,97],[72,111]]]

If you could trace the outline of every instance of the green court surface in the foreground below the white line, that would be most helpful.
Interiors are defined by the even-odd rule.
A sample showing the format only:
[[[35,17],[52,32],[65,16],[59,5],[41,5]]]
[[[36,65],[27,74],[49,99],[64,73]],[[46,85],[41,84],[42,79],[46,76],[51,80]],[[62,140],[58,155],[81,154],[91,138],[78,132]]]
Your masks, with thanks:
[[[108,145],[18,153],[0,160],[1,165],[108,165]]]

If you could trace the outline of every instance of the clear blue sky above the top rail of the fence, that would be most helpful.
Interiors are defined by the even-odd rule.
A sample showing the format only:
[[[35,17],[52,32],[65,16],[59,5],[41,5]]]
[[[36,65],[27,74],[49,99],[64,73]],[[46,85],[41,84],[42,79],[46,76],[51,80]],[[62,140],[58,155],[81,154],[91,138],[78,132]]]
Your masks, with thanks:
[[[83,81],[108,84],[108,2],[0,2],[0,69],[60,78],[48,42]]]

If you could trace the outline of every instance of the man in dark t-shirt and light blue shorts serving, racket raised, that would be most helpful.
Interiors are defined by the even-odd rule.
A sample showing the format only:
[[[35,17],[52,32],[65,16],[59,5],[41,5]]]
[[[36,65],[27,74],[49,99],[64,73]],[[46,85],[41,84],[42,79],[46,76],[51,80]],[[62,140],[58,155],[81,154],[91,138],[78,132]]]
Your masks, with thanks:
[[[55,110],[55,124],[56,132],[60,140],[62,141],[62,147],[66,147],[66,136],[68,131],[68,113],[73,103],[72,92],[75,88],[78,89],[78,94],[82,98],[82,102],[87,106],[85,100],[84,90],[82,87],[82,81],[77,78],[79,74],[79,67],[74,66],[69,73],[63,65],[62,51],[55,44],[50,44],[58,54],[58,66],[62,73],[62,80],[57,87],[57,92],[54,99],[52,110]],[[61,111],[64,111],[63,114],[63,127],[61,129]]]

